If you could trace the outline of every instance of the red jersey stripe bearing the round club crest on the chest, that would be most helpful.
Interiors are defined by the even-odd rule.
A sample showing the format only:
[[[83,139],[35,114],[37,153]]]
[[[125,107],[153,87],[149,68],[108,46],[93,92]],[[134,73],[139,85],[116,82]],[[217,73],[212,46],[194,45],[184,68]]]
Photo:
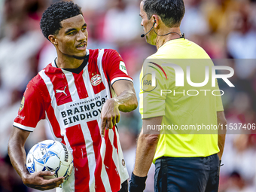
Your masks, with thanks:
[[[90,84],[92,84],[94,94],[105,90],[105,86],[102,82],[102,76],[100,75],[97,59],[99,55],[99,50],[90,50],[90,56],[88,61],[88,72],[90,78]]]

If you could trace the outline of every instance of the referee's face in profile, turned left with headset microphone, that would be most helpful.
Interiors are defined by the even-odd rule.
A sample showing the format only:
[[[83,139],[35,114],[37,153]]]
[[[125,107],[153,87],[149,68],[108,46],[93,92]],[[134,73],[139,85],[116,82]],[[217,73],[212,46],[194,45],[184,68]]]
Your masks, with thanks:
[[[144,30],[144,33],[148,32],[151,27],[153,26],[151,20],[148,20],[148,16],[146,14],[146,12],[143,10],[143,5],[144,5],[144,2],[142,1],[141,4],[140,4],[140,17],[142,17],[142,22],[141,22],[141,26],[143,26],[143,30]],[[155,45],[154,43],[154,30],[152,29],[151,32],[149,32],[147,35],[145,35],[146,37],[146,41],[149,43],[149,44],[153,44]]]

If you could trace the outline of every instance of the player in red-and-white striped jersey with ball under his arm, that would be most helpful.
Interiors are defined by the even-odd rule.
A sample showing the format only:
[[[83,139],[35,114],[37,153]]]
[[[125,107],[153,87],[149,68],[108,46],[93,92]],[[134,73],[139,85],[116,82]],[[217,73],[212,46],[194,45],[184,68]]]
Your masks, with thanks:
[[[39,190],[127,191],[129,175],[115,124],[119,110],[133,111],[138,103],[123,59],[115,50],[87,49],[87,23],[73,2],[50,5],[41,30],[57,58],[27,85],[8,142],[11,163],[24,184]],[[44,179],[52,172],[29,175],[26,170],[24,144],[41,119],[72,151],[74,169],[66,181]]]

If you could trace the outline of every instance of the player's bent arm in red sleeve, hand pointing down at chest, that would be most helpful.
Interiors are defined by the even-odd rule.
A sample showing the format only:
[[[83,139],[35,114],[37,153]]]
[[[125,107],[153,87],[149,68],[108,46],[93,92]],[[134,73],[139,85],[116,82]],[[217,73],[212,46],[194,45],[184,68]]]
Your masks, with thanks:
[[[111,82],[117,97],[108,99],[101,112],[101,134],[104,136],[105,126],[112,129],[120,120],[120,111],[130,112],[137,108],[138,101],[133,88],[133,79],[128,75],[126,66],[116,50],[105,50],[103,69]]]

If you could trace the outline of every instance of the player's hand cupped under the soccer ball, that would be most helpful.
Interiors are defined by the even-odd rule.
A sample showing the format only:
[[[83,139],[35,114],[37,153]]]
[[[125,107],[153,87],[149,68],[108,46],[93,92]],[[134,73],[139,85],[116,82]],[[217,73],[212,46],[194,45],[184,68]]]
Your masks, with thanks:
[[[23,183],[34,189],[50,190],[55,187],[59,187],[59,184],[62,184],[64,181],[64,177],[44,179],[44,176],[51,176],[53,174],[54,172],[47,171],[35,172],[32,175],[26,174],[25,178],[23,178]]]

